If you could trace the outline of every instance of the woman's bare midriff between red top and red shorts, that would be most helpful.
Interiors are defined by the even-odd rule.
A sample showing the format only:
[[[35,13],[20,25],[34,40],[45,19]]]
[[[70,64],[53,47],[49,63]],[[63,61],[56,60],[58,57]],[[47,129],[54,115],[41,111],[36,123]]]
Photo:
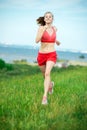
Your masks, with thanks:
[[[41,47],[39,52],[41,53],[49,53],[55,51],[54,43],[41,42]]]

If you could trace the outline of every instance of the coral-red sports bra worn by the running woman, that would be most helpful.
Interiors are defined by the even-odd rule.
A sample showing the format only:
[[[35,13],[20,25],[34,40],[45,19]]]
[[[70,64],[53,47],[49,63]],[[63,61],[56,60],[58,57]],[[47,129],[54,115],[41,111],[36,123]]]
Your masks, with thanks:
[[[55,43],[56,31],[53,27],[52,27],[52,29],[53,29],[53,33],[51,35],[46,30],[44,31],[42,38],[41,38],[41,42]]]

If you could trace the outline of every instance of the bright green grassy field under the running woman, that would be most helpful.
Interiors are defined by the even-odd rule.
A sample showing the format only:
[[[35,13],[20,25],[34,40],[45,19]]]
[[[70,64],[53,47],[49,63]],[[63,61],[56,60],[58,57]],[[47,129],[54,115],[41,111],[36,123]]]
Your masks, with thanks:
[[[87,66],[54,67],[54,93],[41,104],[37,66],[0,70],[0,130],[87,130]]]

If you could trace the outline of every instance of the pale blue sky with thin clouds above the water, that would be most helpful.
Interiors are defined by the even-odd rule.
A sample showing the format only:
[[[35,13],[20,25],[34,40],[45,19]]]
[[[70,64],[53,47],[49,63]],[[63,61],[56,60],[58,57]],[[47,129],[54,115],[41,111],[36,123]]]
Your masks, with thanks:
[[[37,46],[36,19],[46,11],[54,15],[58,49],[87,51],[86,0],[0,0],[0,42]]]

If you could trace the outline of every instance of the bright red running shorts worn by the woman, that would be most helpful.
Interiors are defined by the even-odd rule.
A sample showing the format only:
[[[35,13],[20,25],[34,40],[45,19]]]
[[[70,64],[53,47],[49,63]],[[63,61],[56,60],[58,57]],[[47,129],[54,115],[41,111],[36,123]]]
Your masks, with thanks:
[[[41,52],[39,52],[38,56],[37,56],[37,62],[38,62],[39,66],[46,65],[47,61],[53,61],[54,63],[56,63],[56,60],[57,60],[56,51],[49,52],[49,53],[41,53]]]

